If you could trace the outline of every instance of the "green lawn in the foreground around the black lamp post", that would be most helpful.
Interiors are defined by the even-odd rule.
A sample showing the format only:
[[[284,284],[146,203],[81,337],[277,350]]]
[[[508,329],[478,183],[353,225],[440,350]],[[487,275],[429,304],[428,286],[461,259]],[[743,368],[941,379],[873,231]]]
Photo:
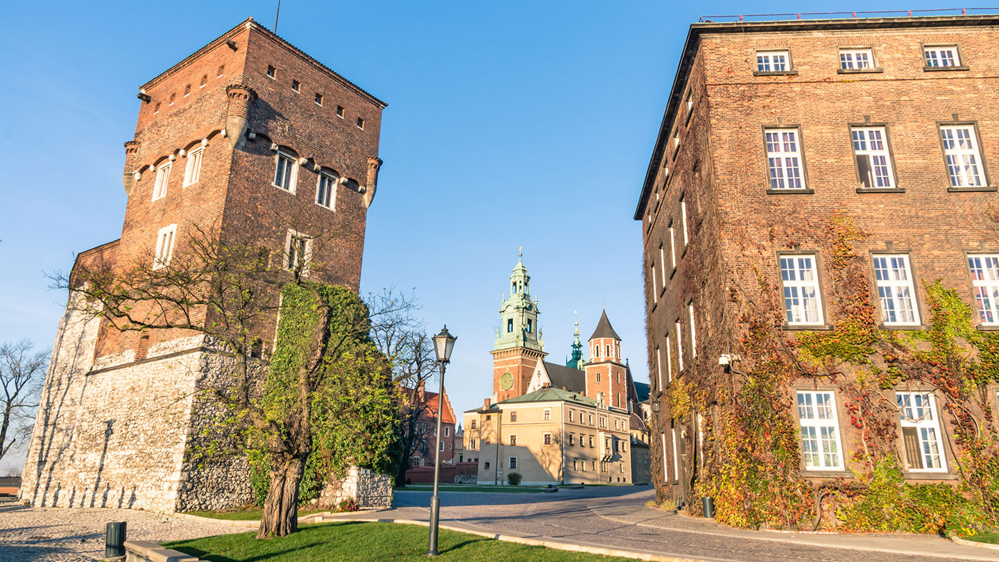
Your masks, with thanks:
[[[166,548],[215,562],[281,560],[282,562],[382,562],[427,560],[427,527],[394,523],[327,523],[305,525],[294,535],[257,540],[253,533],[220,535],[167,543]],[[463,562],[630,562],[629,558],[598,556],[526,546],[441,529],[439,560]]]

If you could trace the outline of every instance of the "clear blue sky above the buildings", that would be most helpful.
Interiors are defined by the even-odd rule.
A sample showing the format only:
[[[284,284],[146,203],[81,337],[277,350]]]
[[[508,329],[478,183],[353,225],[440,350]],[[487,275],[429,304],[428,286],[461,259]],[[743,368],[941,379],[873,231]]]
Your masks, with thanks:
[[[276,2],[31,2],[0,47],[0,341],[51,346],[66,295],[45,272],[119,237],[122,143],[138,85]],[[238,6],[238,7],[237,7]],[[459,409],[492,392],[494,328],[517,247],[549,358],[601,305],[647,380],[641,234],[631,220],[686,29],[704,14],[833,2],[303,2],[278,32],[389,107],[362,291],[414,289],[459,339]],[[880,9],[935,7],[884,2]]]

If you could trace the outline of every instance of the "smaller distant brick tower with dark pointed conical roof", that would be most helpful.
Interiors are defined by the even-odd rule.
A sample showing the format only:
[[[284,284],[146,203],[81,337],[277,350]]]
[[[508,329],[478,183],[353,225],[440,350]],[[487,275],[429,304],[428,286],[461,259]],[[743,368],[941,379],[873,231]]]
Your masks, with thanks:
[[[586,396],[614,408],[627,408],[627,368],[621,363],[621,338],[600,314],[589,336],[589,362],[586,363]]]

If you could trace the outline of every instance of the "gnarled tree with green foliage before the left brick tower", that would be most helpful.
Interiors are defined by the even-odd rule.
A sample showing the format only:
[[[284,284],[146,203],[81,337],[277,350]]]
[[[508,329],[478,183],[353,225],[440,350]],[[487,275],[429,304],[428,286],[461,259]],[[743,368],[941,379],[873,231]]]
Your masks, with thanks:
[[[191,231],[176,241],[167,265],[152,255],[132,264],[82,263],[71,276],[56,276],[55,285],[82,296],[71,302],[119,331],[189,330],[227,357],[219,364],[231,384],[209,397],[221,406],[222,431],[198,452],[261,452],[270,486],[257,536],[285,536],[298,530],[299,485],[317,442],[332,468],[385,464],[385,434],[395,435],[396,420],[383,411],[387,404],[396,411],[398,403],[383,380],[389,365],[368,333],[373,318],[391,319],[412,303],[387,299],[385,309],[372,311],[349,289],[309,281],[323,272],[310,256],[333,234],[312,238],[311,252],[274,258],[249,240]],[[279,310],[268,357],[261,334],[275,329]]]

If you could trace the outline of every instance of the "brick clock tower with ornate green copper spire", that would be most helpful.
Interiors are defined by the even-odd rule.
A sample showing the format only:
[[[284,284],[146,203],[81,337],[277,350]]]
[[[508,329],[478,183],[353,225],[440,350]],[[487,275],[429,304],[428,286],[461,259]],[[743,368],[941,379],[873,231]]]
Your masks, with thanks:
[[[530,276],[520,254],[509,276],[509,298],[500,307],[493,354],[493,392],[498,402],[527,392],[537,362],[544,359],[544,342],[537,326],[537,300],[530,300]]]

